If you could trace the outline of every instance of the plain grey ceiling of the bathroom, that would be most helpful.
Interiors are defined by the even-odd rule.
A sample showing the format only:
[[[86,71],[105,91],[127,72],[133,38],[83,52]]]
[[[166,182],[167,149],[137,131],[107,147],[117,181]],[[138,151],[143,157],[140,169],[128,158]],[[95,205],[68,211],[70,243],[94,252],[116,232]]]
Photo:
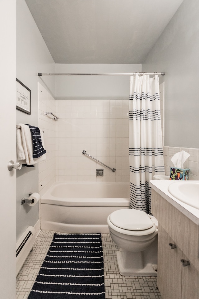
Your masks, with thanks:
[[[25,0],[55,63],[140,64],[183,0]]]

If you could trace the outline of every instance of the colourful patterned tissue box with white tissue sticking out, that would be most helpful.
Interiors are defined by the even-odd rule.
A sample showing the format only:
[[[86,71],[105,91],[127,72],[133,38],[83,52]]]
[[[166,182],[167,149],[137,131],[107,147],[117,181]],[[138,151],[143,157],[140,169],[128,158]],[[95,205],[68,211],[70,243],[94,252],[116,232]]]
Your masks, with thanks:
[[[189,169],[183,168],[183,163],[188,159],[190,154],[182,150],[174,154],[171,158],[171,161],[174,164],[174,167],[170,168],[170,180],[184,180],[186,181],[189,176]]]

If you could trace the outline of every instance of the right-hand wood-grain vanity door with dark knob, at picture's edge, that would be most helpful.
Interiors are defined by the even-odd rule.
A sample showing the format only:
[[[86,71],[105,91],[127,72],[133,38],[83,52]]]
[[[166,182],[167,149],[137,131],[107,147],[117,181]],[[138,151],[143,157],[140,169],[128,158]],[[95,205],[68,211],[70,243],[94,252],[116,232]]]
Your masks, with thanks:
[[[185,254],[182,254],[182,259],[189,261]],[[186,267],[182,267],[182,299],[183,298],[199,298],[199,275],[192,263]]]

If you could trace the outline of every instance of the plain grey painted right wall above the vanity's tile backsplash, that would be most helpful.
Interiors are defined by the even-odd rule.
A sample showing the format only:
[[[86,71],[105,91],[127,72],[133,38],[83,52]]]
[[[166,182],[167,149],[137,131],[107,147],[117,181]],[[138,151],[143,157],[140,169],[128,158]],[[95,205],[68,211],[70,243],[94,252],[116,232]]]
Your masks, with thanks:
[[[142,64],[165,72],[164,145],[199,148],[199,2],[184,0]]]

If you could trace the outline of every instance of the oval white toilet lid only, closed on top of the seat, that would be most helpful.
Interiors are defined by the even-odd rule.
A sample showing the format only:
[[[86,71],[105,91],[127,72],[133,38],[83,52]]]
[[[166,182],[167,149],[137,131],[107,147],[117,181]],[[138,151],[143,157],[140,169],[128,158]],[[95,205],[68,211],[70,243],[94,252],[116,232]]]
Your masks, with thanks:
[[[110,222],[125,230],[148,230],[154,224],[144,211],[122,209],[109,216]]]

